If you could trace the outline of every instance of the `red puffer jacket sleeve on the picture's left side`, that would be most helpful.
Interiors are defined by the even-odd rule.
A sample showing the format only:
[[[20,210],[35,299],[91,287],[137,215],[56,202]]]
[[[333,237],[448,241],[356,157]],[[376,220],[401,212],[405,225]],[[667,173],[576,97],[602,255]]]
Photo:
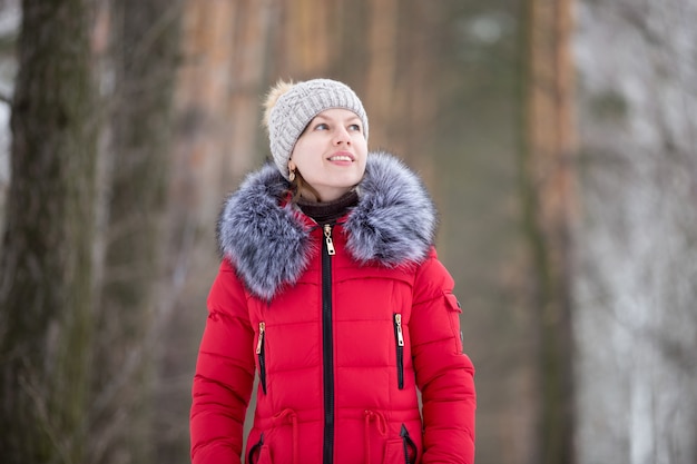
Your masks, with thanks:
[[[253,339],[244,288],[224,260],[208,295],[208,318],[192,388],[194,464],[240,462],[254,384]]]

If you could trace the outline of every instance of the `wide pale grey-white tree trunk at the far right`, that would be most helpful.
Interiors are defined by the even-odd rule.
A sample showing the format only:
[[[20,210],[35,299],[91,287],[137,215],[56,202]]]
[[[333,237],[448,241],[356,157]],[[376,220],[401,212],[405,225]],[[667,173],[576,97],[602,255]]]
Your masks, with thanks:
[[[579,463],[697,462],[697,2],[580,1]]]

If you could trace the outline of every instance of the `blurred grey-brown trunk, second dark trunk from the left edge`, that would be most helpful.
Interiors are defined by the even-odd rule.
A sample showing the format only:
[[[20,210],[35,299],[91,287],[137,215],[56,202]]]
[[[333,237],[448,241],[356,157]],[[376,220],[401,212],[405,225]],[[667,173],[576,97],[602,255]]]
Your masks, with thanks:
[[[154,448],[151,388],[161,320],[158,285],[168,236],[163,227],[170,166],[171,107],[181,4],[110,4],[116,79],[107,148],[105,269],[97,308],[90,460],[148,462]]]

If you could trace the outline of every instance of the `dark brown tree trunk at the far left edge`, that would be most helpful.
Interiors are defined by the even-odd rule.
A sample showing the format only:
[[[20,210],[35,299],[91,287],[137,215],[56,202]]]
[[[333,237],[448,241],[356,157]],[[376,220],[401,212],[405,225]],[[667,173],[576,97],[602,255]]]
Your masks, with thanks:
[[[0,450],[9,464],[82,462],[96,172],[88,3],[22,2],[0,261]]]

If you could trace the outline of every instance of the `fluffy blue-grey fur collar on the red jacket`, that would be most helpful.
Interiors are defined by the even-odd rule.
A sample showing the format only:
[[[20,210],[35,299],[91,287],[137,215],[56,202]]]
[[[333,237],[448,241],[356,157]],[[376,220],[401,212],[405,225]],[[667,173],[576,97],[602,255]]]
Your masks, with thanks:
[[[220,254],[230,259],[246,287],[271,300],[293,285],[316,256],[307,226],[292,204],[275,166],[248,175],[225,201],[217,225]],[[371,152],[357,186],[359,204],[344,223],[347,250],[360,264],[409,266],[425,259],[436,214],[421,179],[397,158]]]

